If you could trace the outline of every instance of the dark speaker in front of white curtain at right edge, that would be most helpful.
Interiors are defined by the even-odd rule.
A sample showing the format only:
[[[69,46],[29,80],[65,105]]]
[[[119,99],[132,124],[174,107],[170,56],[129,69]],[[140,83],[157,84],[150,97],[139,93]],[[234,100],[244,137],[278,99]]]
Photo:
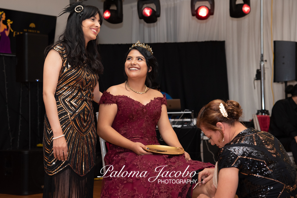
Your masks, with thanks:
[[[274,82],[297,80],[297,42],[274,41]]]

